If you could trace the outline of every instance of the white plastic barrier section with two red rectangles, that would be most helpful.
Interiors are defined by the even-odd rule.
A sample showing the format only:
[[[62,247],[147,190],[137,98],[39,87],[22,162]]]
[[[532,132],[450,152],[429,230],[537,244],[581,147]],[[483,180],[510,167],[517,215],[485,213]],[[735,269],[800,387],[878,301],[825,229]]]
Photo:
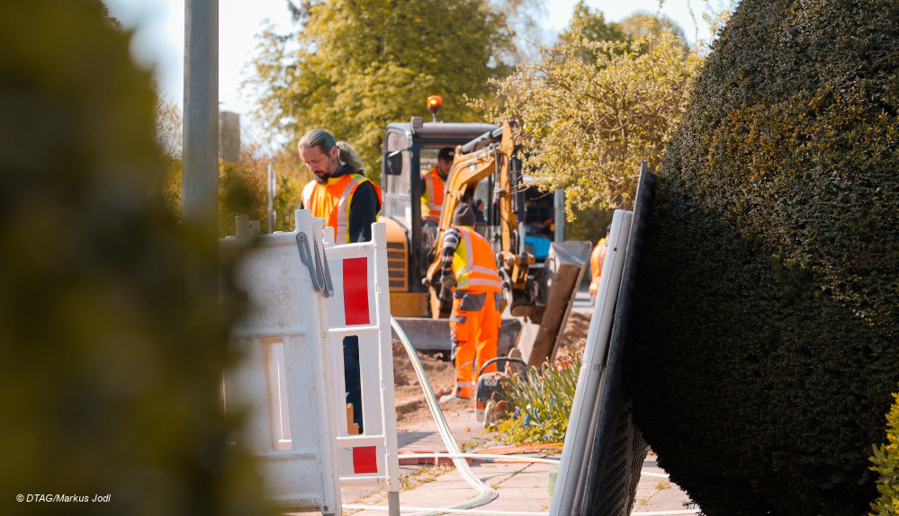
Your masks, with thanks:
[[[332,231],[325,230],[326,243],[334,241]],[[371,242],[326,244],[325,250],[334,290],[328,298],[331,383],[337,395],[346,391],[343,342],[356,336],[362,385],[362,433],[351,435],[346,423],[337,425],[340,484],[386,487],[391,513],[399,514],[387,229],[375,223]],[[339,421],[346,414],[346,400],[335,396],[333,406]]]

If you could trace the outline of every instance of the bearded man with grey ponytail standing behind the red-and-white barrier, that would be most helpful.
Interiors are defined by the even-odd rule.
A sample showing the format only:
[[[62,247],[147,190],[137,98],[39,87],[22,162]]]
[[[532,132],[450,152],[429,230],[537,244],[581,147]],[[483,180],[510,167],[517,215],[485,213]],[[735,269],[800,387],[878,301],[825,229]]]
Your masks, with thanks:
[[[381,210],[380,189],[362,174],[355,149],[336,142],[327,130],[312,129],[297,146],[303,163],[315,180],[302,189],[300,208],[324,218],[334,228],[337,244],[368,242],[372,224]],[[353,422],[363,429],[362,384],[359,378],[359,338],[344,337],[344,381],[346,403],[353,405]]]

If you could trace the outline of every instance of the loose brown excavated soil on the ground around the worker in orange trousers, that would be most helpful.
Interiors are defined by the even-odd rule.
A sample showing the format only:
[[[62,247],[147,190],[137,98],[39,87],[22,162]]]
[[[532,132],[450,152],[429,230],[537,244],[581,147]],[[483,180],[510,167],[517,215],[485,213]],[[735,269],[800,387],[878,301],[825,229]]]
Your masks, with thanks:
[[[589,327],[590,318],[587,314],[571,312],[568,323],[562,332],[562,341],[559,350],[556,351],[556,356],[562,357],[565,354],[584,351]],[[445,360],[442,353],[428,354],[417,351],[417,355],[435,395],[439,398],[448,394],[453,388],[454,382],[453,363],[448,360],[448,357]],[[422,423],[430,422],[431,413],[425,403],[425,395],[421,386],[418,385],[418,378],[416,378],[415,370],[412,369],[409,355],[399,340],[393,341],[393,380],[396,387],[394,396],[397,430],[408,431]],[[472,403],[454,401],[442,404],[440,408],[449,418],[452,414],[472,412]]]

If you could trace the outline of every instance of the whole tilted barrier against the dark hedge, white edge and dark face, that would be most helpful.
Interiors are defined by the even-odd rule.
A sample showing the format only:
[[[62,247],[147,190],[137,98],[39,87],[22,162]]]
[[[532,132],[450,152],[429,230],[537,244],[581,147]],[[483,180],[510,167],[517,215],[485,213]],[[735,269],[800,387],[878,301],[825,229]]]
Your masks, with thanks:
[[[634,212],[616,211],[597,305],[562,449],[552,516],[627,516],[634,506],[646,444],[631,423],[623,353],[635,263],[639,260],[655,176],[643,162]]]

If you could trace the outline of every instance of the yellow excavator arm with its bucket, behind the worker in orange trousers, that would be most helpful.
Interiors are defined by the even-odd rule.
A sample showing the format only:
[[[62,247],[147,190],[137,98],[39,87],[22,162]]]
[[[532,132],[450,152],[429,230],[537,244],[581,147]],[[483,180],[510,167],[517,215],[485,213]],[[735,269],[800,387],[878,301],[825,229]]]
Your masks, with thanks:
[[[443,238],[452,226],[456,207],[472,202],[479,183],[492,175],[491,198],[497,205],[493,224],[499,227],[499,235],[494,233],[491,244],[503,282],[504,304],[512,316],[524,320],[517,347],[529,365],[540,366],[544,360],[553,358],[592,247],[589,242],[553,243],[542,263],[536,262],[534,254],[526,252],[526,225],[522,224],[526,222],[522,220],[526,184],[515,129],[516,122],[508,120],[501,128],[456,147],[453,168],[445,183],[444,208],[433,259],[424,282],[428,287],[431,316],[448,317],[452,302],[440,298]]]

